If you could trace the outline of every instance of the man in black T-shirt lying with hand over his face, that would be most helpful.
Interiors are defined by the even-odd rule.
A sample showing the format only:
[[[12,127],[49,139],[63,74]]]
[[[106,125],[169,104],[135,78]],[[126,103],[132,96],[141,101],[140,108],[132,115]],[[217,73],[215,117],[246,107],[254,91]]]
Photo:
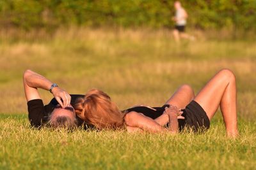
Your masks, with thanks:
[[[83,95],[71,97],[56,83],[52,83],[44,76],[30,70],[24,72],[23,83],[28,101],[28,117],[33,127],[47,124],[51,127],[73,128],[84,123],[81,118],[77,117],[74,107],[71,105],[74,104],[76,97],[83,97]],[[49,90],[54,99],[44,106],[38,88]]]

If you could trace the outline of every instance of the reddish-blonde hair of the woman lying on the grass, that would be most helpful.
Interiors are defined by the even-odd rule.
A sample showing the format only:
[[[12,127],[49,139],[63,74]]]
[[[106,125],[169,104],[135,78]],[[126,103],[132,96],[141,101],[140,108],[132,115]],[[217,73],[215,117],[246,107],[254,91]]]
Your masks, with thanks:
[[[97,129],[116,129],[124,126],[124,116],[108,94],[98,89],[89,90],[74,105],[76,114]]]

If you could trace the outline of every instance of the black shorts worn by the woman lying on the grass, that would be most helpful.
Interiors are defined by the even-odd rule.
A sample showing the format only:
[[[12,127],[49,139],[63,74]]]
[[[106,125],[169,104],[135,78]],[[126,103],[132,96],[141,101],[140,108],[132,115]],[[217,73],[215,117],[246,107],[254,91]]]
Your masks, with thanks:
[[[194,132],[205,131],[210,128],[209,118],[204,109],[196,103],[196,101],[191,101],[182,111],[182,116],[185,117],[185,119],[179,119],[180,131],[182,131],[184,127],[189,127]]]

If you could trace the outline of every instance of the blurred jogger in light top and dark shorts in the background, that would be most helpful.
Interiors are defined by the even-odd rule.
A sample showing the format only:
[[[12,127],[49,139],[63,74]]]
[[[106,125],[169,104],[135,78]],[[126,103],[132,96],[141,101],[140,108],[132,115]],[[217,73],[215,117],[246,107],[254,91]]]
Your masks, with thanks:
[[[185,32],[188,13],[181,6],[180,1],[175,1],[174,8],[176,10],[175,17],[173,17],[173,20],[175,21],[175,29],[173,30],[173,36],[175,41],[179,43],[180,38],[189,39],[191,41],[195,40],[194,36],[191,36]]]

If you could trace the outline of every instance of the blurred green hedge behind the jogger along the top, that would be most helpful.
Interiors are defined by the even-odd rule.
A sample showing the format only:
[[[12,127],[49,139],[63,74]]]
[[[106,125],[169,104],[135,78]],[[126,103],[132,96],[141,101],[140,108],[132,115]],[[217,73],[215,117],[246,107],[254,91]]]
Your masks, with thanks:
[[[1,28],[173,27],[169,0],[0,0]],[[181,1],[196,29],[255,30],[256,0]]]

